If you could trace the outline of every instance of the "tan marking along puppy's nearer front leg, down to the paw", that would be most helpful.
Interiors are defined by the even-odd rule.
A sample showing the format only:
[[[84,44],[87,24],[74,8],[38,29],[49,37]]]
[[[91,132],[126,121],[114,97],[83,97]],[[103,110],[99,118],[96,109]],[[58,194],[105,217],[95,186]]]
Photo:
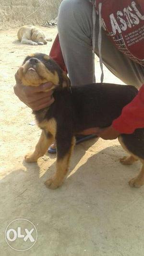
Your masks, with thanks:
[[[56,189],[58,188],[63,179],[65,178],[67,172],[68,172],[68,167],[69,167],[69,162],[70,162],[70,158],[71,158],[71,154],[73,151],[73,147],[75,145],[75,137],[72,138],[72,145],[71,148],[69,150],[69,152],[60,160],[57,159],[56,162],[56,174],[51,177],[50,179],[47,179],[45,182],[45,185],[51,189]]]

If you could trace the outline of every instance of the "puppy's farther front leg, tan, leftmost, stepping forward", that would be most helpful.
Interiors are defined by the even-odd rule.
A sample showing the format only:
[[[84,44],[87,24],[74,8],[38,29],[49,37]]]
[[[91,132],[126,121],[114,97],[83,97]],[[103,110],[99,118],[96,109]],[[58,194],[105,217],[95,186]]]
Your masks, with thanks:
[[[34,153],[26,154],[24,157],[25,161],[36,162],[39,157],[43,156],[47,152],[48,147],[51,145],[53,141],[54,141],[53,136],[51,136],[50,138],[47,138],[45,132],[42,131],[39,141],[36,144]]]

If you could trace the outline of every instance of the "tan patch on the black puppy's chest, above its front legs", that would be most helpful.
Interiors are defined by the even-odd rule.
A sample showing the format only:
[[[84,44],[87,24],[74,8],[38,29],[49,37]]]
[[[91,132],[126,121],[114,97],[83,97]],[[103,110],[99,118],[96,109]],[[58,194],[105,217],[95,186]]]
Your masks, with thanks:
[[[43,122],[39,123],[38,126],[41,129],[45,129],[47,132],[49,131],[55,138],[56,131],[57,131],[57,122],[56,122],[55,118],[51,118],[48,121],[44,120]]]

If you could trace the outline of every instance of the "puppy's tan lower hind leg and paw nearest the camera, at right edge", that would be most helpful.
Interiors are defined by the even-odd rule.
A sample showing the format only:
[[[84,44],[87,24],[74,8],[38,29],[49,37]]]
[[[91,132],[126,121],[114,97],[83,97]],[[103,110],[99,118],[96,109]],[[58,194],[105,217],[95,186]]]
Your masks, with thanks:
[[[139,160],[143,164],[142,169],[137,177],[129,181],[129,185],[134,188],[139,188],[144,184],[144,160],[143,159],[139,159]]]

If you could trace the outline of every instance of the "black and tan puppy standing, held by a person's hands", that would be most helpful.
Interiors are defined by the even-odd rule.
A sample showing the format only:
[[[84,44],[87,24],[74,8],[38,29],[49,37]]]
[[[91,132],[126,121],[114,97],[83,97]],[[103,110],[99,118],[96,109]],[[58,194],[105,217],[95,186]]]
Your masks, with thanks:
[[[25,155],[26,162],[35,162],[56,140],[57,171],[45,182],[53,189],[61,185],[67,174],[75,134],[86,128],[110,126],[138,92],[133,86],[107,83],[71,88],[69,78],[58,64],[42,53],[27,56],[16,76],[25,86],[38,86],[49,81],[54,84],[54,103],[33,112],[42,133],[34,153]],[[143,164],[140,174],[129,182],[132,187],[140,187],[144,184],[144,128],[136,129],[130,135],[121,134],[119,141],[130,153],[129,157],[121,159],[121,163],[132,164],[139,159]]]

